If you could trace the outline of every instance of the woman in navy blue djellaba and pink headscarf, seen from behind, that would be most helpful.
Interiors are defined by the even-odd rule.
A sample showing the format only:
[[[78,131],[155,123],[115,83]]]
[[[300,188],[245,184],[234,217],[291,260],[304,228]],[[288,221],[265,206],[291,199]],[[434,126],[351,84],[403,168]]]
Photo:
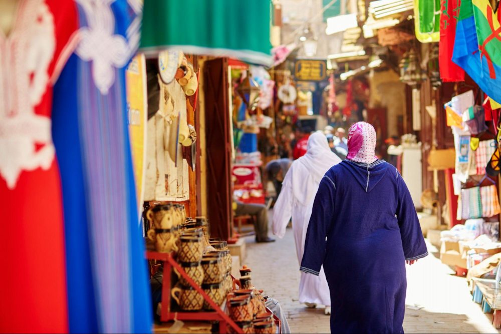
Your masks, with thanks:
[[[405,263],[428,255],[409,190],[375,147],[372,125],[352,125],[347,159],[310,207],[300,270],[318,275],[323,265],[333,333],[403,333]]]

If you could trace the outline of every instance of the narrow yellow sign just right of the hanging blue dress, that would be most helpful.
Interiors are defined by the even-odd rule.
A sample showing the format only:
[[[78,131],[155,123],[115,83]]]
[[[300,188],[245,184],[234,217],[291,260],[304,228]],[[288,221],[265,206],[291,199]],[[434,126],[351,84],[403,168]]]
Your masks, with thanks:
[[[146,122],[148,119],[146,97],[146,62],[144,55],[138,55],[125,71],[127,87],[127,123],[132,151],[132,163],[139,212],[142,212],[144,178],[146,171]]]

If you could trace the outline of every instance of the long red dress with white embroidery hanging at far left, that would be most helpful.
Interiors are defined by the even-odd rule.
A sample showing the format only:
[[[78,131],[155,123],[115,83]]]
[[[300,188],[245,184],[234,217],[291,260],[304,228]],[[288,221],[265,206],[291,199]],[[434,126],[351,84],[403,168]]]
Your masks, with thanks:
[[[0,32],[2,332],[68,331],[51,111],[53,84],[71,54],[77,24],[73,1],[21,0],[11,33]]]

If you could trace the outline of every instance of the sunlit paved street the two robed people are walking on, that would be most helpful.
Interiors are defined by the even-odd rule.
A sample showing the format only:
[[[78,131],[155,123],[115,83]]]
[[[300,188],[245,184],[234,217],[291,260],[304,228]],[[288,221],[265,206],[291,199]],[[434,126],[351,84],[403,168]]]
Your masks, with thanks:
[[[292,229],[284,239],[256,244],[247,238],[246,264],[253,270],[253,283],[278,299],[293,333],[329,333],[329,317],[323,308],[308,309],[298,298],[299,265]],[[407,266],[406,333],[493,333],[490,315],[471,300],[466,279],[431,254]]]

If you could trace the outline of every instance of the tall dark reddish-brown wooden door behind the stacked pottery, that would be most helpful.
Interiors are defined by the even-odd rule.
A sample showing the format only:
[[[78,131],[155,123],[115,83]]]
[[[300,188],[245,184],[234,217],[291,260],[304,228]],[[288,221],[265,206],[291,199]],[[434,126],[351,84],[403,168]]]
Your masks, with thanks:
[[[210,234],[227,240],[232,222],[231,134],[228,111],[228,61],[218,58],[203,67],[205,141],[207,154],[207,213]]]

